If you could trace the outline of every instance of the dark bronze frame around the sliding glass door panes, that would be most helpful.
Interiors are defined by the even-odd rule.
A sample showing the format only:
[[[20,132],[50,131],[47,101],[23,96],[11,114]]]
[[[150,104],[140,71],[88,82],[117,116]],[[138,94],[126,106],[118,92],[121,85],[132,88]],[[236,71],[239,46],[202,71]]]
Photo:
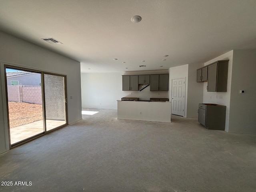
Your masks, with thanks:
[[[7,131],[8,133],[8,137],[6,136],[6,147],[8,146],[9,149],[7,148],[7,150],[10,150],[14,147],[20,146],[22,144],[25,144],[27,142],[30,142],[34,139],[37,139],[41,136],[44,136],[50,132],[53,132],[59,128],[62,128],[64,126],[68,125],[68,104],[67,104],[67,75],[66,74],[57,74],[54,72],[50,72],[47,70],[39,70],[37,68],[33,68],[33,67],[28,67],[28,66],[21,66],[18,64],[12,64],[12,63],[8,63],[8,62],[1,62],[1,66],[3,65],[4,68],[4,77],[2,77],[2,80],[4,78],[4,82],[2,83],[2,99],[3,99],[3,105],[5,103],[6,106],[3,106],[4,108],[6,108],[6,113],[4,112],[4,125],[5,125],[5,131]],[[10,122],[9,122],[9,108],[8,108],[8,91],[7,91],[7,78],[6,78],[6,68],[14,68],[17,70],[23,70],[23,71],[28,71],[28,72],[37,72],[41,74],[41,86],[42,86],[42,111],[43,111],[43,132],[36,134],[34,136],[31,136],[29,138],[26,138],[25,140],[21,140],[20,142],[17,142],[16,144],[11,144],[11,136],[10,136]],[[51,130],[46,131],[46,109],[45,109],[45,99],[44,99],[44,74],[50,74],[50,75],[56,75],[56,76],[62,76],[64,77],[64,106],[65,106],[65,121],[66,123],[58,126],[56,128],[53,128]],[[5,102],[4,102],[5,100]],[[7,135],[7,134],[5,134]]]

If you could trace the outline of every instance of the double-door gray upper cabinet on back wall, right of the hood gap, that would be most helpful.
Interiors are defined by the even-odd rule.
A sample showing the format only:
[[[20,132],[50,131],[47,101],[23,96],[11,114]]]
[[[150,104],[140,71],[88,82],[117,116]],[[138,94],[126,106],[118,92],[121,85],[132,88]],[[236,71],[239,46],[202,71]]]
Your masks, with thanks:
[[[169,74],[150,75],[150,91],[168,91]]]

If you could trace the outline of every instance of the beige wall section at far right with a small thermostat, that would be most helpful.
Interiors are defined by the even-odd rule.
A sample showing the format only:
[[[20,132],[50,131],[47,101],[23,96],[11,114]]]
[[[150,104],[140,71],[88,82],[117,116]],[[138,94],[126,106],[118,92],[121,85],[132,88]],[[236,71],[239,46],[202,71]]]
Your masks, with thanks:
[[[256,49],[234,50],[229,132],[256,134]],[[245,90],[240,94],[239,90]]]

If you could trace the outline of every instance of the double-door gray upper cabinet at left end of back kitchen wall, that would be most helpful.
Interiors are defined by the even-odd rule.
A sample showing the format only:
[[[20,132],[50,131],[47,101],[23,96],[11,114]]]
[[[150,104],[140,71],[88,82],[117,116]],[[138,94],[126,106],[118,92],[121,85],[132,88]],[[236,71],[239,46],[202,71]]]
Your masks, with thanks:
[[[123,75],[122,76],[123,91],[138,91],[138,75]]]

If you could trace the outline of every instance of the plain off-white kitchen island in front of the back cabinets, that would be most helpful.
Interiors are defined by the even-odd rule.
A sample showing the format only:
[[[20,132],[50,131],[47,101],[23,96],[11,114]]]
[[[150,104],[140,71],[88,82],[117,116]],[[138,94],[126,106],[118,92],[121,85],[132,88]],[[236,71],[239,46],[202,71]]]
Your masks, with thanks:
[[[117,118],[170,123],[171,102],[117,100]]]

